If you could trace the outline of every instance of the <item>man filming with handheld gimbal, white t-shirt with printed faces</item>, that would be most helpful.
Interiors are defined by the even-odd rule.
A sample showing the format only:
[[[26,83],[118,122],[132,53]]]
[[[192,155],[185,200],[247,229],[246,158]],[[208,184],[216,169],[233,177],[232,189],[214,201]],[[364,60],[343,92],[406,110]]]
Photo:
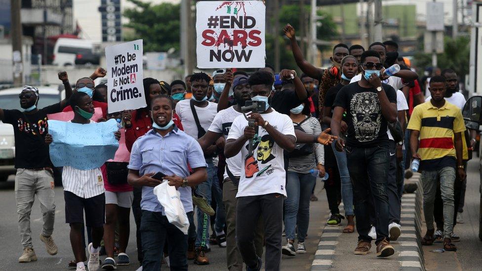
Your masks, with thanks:
[[[241,152],[241,178],[236,208],[236,239],[246,270],[260,270],[261,259],[254,250],[254,229],[259,216],[263,217],[266,240],[266,270],[280,270],[283,201],[286,196],[283,150],[292,151],[296,136],[287,115],[270,107],[273,76],[256,72],[249,77],[253,101],[266,102],[261,113],[251,113],[255,127],[249,127],[244,116],[238,116],[229,131],[224,154],[236,156]],[[252,139],[253,152],[248,151]]]

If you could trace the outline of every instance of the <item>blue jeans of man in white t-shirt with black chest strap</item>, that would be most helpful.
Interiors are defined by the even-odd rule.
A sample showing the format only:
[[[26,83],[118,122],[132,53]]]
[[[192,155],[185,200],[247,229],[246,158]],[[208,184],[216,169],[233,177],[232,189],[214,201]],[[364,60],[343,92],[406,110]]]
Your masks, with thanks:
[[[214,230],[216,232],[222,232],[224,230],[224,225],[226,224],[226,211],[223,204],[223,191],[221,190],[221,186],[219,185],[219,180],[217,176],[218,170],[217,167],[213,165],[212,158],[206,158],[206,163],[207,180],[198,185],[196,193],[207,199],[207,202],[209,202],[209,204],[211,204],[211,200],[214,197],[214,200],[216,200],[217,202]],[[211,188],[212,191],[215,192],[213,195],[211,195]],[[209,221],[209,216],[201,212],[201,210],[199,210],[198,208],[198,229],[196,237],[197,247],[209,246]]]

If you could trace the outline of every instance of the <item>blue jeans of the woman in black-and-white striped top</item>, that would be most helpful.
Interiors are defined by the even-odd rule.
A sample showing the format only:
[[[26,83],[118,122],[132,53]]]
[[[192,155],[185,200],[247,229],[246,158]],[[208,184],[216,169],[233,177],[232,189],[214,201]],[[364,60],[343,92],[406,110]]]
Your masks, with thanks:
[[[316,177],[310,173],[286,173],[286,195],[284,199],[284,231],[286,239],[294,240],[298,224],[298,242],[304,242],[310,222],[310,196]]]

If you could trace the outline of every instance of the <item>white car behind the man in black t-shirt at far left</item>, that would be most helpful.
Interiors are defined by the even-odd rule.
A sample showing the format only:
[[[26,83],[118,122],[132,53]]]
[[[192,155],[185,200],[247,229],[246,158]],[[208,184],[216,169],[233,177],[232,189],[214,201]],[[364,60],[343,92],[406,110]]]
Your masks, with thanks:
[[[60,91],[57,86],[39,86],[39,108],[44,108],[61,101],[65,96],[63,91]],[[0,108],[1,109],[18,109],[20,107],[20,100],[18,94],[22,91],[22,87],[14,87],[0,90]],[[13,134],[13,127],[11,124],[0,121],[0,182],[7,180],[8,175],[15,174],[15,138]],[[58,184],[58,177],[56,178]],[[62,183],[60,181],[60,183]]]

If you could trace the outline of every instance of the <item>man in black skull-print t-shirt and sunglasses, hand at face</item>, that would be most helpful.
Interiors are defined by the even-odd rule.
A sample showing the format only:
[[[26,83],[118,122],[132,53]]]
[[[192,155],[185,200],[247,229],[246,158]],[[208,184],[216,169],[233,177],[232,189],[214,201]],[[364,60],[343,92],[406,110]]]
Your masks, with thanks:
[[[371,248],[370,213],[377,214],[375,245],[377,257],[395,253],[390,245],[389,202],[386,192],[390,151],[388,122],[397,121],[397,95],[383,84],[380,55],[373,50],[361,54],[361,80],[344,86],[333,103],[331,132],[338,136],[337,151],[346,152],[347,167],[353,182],[353,201],[357,217],[358,244],[355,254],[366,255]],[[346,115],[346,143],[340,138],[340,123]],[[373,199],[373,204],[372,204]]]

